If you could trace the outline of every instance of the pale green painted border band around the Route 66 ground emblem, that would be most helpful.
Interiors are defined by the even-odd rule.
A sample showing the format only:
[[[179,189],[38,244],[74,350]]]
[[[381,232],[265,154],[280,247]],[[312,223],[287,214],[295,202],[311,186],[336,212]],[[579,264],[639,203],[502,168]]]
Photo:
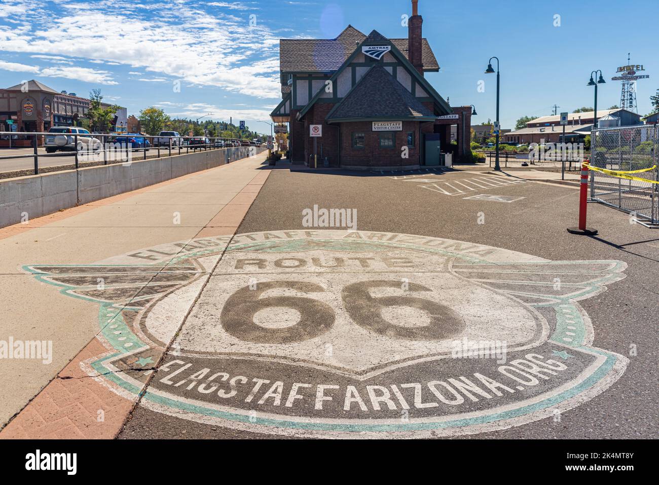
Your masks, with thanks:
[[[308,240],[309,238],[300,238],[300,239],[273,239],[272,241],[260,241],[258,243],[245,243],[245,244],[237,244],[237,245],[225,245],[225,252],[229,251],[234,251],[234,250],[249,250],[249,249],[262,249],[264,246],[268,246],[269,244],[274,244],[280,241],[305,241]],[[423,248],[423,246],[413,246],[411,244],[401,244],[401,243],[395,243],[395,241],[364,241],[360,239],[310,239],[312,241],[320,241],[320,242],[332,242],[336,243],[337,241],[345,241],[346,243],[351,243],[351,244],[364,244],[370,245],[370,246],[393,246],[393,247],[398,247],[398,248],[409,248],[413,250],[419,250],[420,248]],[[457,243],[464,243],[464,241],[457,241]],[[533,405],[528,405],[525,407],[517,408],[517,409],[512,409],[510,411],[504,411],[503,413],[497,413],[497,414],[491,414],[491,415],[486,415],[486,416],[478,416],[474,418],[461,418],[457,420],[452,420],[448,422],[423,422],[423,423],[409,423],[409,424],[375,424],[375,425],[370,425],[370,424],[331,424],[331,423],[309,423],[309,422],[297,422],[297,421],[291,421],[291,420],[277,420],[277,419],[272,419],[272,418],[258,418],[254,416],[245,416],[243,414],[235,414],[235,413],[229,413],[227,411],[217,411],[215,409],[210,409],[198,405],[191,405],[188,403],[182,403],[181,401],[175,401],[173,399],[169,399],[167,397],[163,397],[160,395],[157,395],[155,393],[152,393],[144,387],[139,388],[134,384],[131,384],[130,382],[123,380],[118,376],[116,372],[112,372],[106,365],[106,363],[110,360],[116,360],[116,358],[122,357],[123,355],[126,355],[127,353],[130,353],[129,351],[126,350],[125,344],[126,343],[132,343],[131,351],[134,351],[136,349],[140,348],[140,345],[144,346],[146,345],[142,340],[140,340],[132,331],[130,330],[129,326],[127,326],[125,320],[123,319],[123,316],[121,315],[121,310],[123,309],[130,309],[130,310],[140,310],[140,308],[134,308],[134,307],[123,307],[119,309],[119,312],[110,318],[109,315],[109,310],[114,309],[117,310],[117,308],[114,306],[114,304],[108,304],[107,302],[102,302],[100,300],[94,300],[94,299],[89,299],[87,297],[82,297],[80,295],[73,295],[71,293],[68,293],[71,289],[75,289],[76,287],[71,286],[71,285],[65,285],[63,283],[56,283],[54,281],[47,281],[45,277],[51,275],[51,273],[43,273],[42,271],[36,271],[33,270],[32,268],[34,266],[52,266],[52,267],[65,267],[65,266],[74,266],[74,267],[122,267],[122,268],[127,268],[130,266],[136,266],[140,268],[144,268],[144,266],[163,266],[163,268],[166,268],[169,264],[173,264],[174,262],[179,262],[181,260],[186,260],[186,259],[194,259],[198,258],[200,256],[205,256],[209,253],[213,252],[221,252],[221,244],[219,244],[219,248],[204,248],[202,250],[196,251],[196,252],[190,252],[185,255],[177,256],[169,260],[169,262],[156,262],[153,264],[140,264],[140,265],[130,265],[130,264],[115,264],[115,265],[102,265],[102,264],[93,264],[93,265],[87,265],[87,264],[62,264],[62,265],[56,265],[56,264],[43,264],[43,265],[38,265],[38,264],[32,264],[32,265],[25,265],[22,268],[27,271],[28,273],[32,273],[39,281],[42,281],[43,283],[48,283],[53,286],[57,287],[62,287],[60,290],[60,293],[63,295],[67,295],[69,297],[74,297],[82,300],[88,300],[88,301],[93,301],[93,302],[100,302],[101,307],[99,310],[99,324],[101,326],[101,333],[107,339],[107,341],[112,345],[113,349],[117,351],[117,353],[113,353],[112,355],[105,356],[103,358],[100,358],[94,362],[92,362],[92,368],[96,370],[101,376],[104,378],[107,378],[114,384],[119,385],[123,389],[129,391],[130,393],[133,393],[135,395],[143,395],[144,398],[148,399],[148,401],[158,403],[160,405],[164,405],[167,407],[172,407],[175,409],[182,409],[183,411],[188,411],[191,413],[195,414],[200,414],[204,416],[211,416],[211,417],[217,417],[217,418],[223,418],[227,420],[232,420],[232,421],[239,421],[239,422],[250,422],[254,424],[260,424],[263,426],[275,426],[275,427],[286,427],[286,428],[294,428],[294,429],[304,429],[304,430],[320,430],[320,431],[343,431],[343,432],[401,432],[401,431],[413,431],[413,430],[434,430],[434,429],[442,429],[442,428],[454,428],[454,427],[463,427],[463,426],[474,426],[476,424],[486,424],[490,422],[496,422],[504,419],[510,419],[510,418],[515,418],[519,416],[523,416],[525,414],[530,414],[534,413],[536,411],[542,411],[544,409],[547,409],[548,407],[552,407],[556,404],[562,403],[563,401],[570,399],[571,397],[574,397],[575,395],[590,389],[590,387],[593,387],[596,385],[602,378],[604,378],[606,375],[609,374],[609,372],[612,370],[614,365],[617,362],[617,356],[614,353],[611,353],[609,351],[604,351],[602,349],[597,349],[595,347],[588,347],[587,345],[583,345],[583,341],[585,339],[585,322],[583,321],[583,317],[581,316],[581,313],[579,312],[579,308],[577,308],[576,305],[569,303],[571,300],[575,299],[581,299],[585,295],[588,295],[590,293],[598,292],[600,291],[600,285],[602,283],[608,283],[612,281],[618,281],[620,278],[617,277],[619,273],[623,270],[621,268],[623,266],[623,262],[616,261],[616,260],[590,260],[590,261],[585,261],[585,260],[578,260],[578,261],[546,261],[546,262],[515,262],[517,265],[524,265],[528,264],[530,265],[557,265],[557,264],[585,264],[585,263],[590,263],[590,264],[611,264],[612,262],[615,262],[616,264],[611,268],[609,271],[612,271],[612,274],[606,275],[604,277],[601,277],[599,279],[595,279],[594,281],[591,281],[588,283],[590,285],[590,289],[587,289],[581,293],[577,293],[577,295],[571,295],[571,297],[554,297],[553,295],[549,295],[552,298],[559,299],[561,300],[560,302],[552,303],[552,304],[531,304],[530,306],[538,306],[538,307],[546,307],[546,306],[553,306],[554,310],[556,311],[556,329],[554,333],[552,334],[552,337],[550,337],[550,342],[554,343],[559,343],[561,345],[565,345],[567,347],[571,347],[576,350],[581,350],[581,351],[586,351],[586,352],[592,352],[596,353],[598,355],[604,355],[606,357],[606,360],[602,362],[602,365],[598,367],[595,372],[590,374],[583,382],[580,384],[576,385],[575,387],[571,387],[571,389],[567,389],[566,391],[563,391],[563,393],[556,395],[554,397],[550,397],[548,399],[544,399],[543,401],[540,401],[539,403],[535,403]],[[286,248],[274,248],[275,252],[277,250],[286,250]],[[371,248],[372,249],[372,248]],[[366,250],[366,248],[364,249]],[[466,260],[472,264],[483,264],[483,265],[488,265],[488,266],[507,266],[511,263],[509,262],[488,262],[485,260],[480,260],[478,258],[473,258],[470,256],[465,256],[464,254],[456,254],[454,252],[449,252],[447,250],[441,250],[438,248],[424,248],[426,252],[430,253],[436,253],[436,254],[442,254],[444,256],[450,256],[454,258],[460,258],[462,260]],[[570,286],[569,284],[566,284],[566,286]],[[518,295],[525,295],[524,293],[517,293]],[[529,294],[529,296],[535,296]],[[567,327],[567,322],[565,321],[565,316],[563,315],[563,312],[561,311],[562,308],[569,308],[571,310],[571,313],[573,316],[578,316],[578,321],[574,322],[573,324],[575,327],[576,335],[573,338],[573,343],[566,343],[565,341],[560,341],[558,340],[559,336],[562,338],[562,335],[564,335]],[[109,328],[110,323],[113,325],[116,324],[117,327],[115,328]],[[114,331],[121,331],[121,334],[115,335]],[[126,331],[127,333],[124,334],[123,332]],[[119,341],[119,335],[121,336],[126,336],[130,337],[130,340],[127,338],[127,341]],[[135,349],[132,347],[136,346]]]

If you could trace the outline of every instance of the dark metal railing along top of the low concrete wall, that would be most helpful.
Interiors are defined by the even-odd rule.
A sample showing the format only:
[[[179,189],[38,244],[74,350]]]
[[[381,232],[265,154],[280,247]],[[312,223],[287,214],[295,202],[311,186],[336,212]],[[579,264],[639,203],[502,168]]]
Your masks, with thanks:
[[[63,127],[64,128],[64,127]],[[77,128],[77,127],[71,127]],[[41,140],[40,140],[41,138]],[[26,149],[26,153],[0,155],[0,173],[5,172],[3,161],[34,159],[34,175],[40,171],[39,161],[51,157],[72,157],[70,163],[49,165],[49,167],[84,165],[108,165],[127,161],[183,155],[200,150],[221,150],[238,146],[261,148],[264,144],[237,138],[212,138],[208,136],[154,136],[143,134],[100,134],[100,133],[61,133],[61,132],[7,132],[0,131],[0,140],[10,140],[11,150]],[[16,144],[20,146],[16,146]],[[22,142],[22,143],[20,143]],[[29,142],[29,146],[26,146]],[[0,148],[2,154],[3,148]],[[40,148],[45,153],[40,153]],[[26,171],[16,169],[13,171]]]

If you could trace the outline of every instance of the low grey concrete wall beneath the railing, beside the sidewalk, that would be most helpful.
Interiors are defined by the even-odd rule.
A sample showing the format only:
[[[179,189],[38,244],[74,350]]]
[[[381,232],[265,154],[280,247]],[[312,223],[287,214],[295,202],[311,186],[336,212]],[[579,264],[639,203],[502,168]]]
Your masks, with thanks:
[[[249,146],[0,180],[0,227],[137,190],[250,155]],[[263,152],[256,148],[256,153]]]

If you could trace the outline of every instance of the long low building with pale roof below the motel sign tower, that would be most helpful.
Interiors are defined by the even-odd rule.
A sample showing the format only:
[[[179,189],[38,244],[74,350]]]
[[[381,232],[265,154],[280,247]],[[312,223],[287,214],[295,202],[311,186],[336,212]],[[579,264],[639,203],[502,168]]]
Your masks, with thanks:
[[[565,140],[563,140],[563,126],[560,123],[560,115],[542,116],[531,120],[527,123],[526,128],[511,131],[503,135],[503,140],[504,142],[517,143],[579,143],[590,134],[595,121],[594,117],[594,111],[570,113],[567,115]],[[614,120],[617,120],[616,125],[621,127],[643,125],[640,115],[620,108],[598,110],[597,119],[598,123],[604,119],[607,127],[612,126],[612,121]]]

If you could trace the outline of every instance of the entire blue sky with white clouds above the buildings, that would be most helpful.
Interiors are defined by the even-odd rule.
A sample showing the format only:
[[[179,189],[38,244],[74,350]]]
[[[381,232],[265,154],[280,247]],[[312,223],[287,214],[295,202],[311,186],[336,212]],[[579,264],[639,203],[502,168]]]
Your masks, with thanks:
[[[610,78],[627,52],[650,74],[638,83],[639,113],[659,88],[657,0],[420,0],[419,9],[442,67],[428,80],[451,105],[476,105],[475,123],[495,118],[496,77],[483,73],[493,55],[503,128],[552,114],[554,104],[592,106],[594,69],[607,80],[598,108],[619,103]],[[79,96],[101,88],[129,114],[157,105],[171,116],[216,113],[208,118],[270,132],[257,121],[269,121],[281,99],[279,38],[333,38],[347,24],[403,38],[401,16],[410,13],[409,0],[3,0],[0,85],[35,78]]]

